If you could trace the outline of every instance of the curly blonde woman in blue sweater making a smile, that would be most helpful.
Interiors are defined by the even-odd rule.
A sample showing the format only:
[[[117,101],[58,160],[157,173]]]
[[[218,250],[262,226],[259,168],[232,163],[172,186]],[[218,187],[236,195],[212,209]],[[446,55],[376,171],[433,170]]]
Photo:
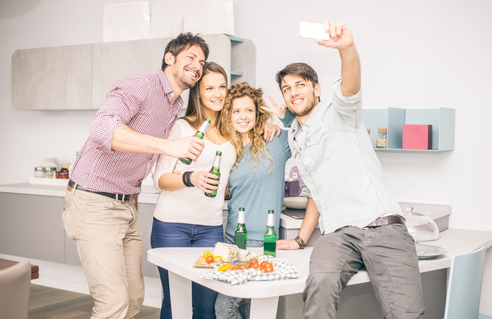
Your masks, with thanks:
[[[229,215],[225,228],[225,242],[234,243],[239,207],[245,207],[248,247],[262,247],[267,225],[267,212],[275,210],[275,228],[278,233],[280,211],[284,194],[285,162],[291,152],[287,131],[270,143],[260,136],[261,129],[270,119],[270,113],[260,106],[265,102],[261,88],[246,82],[234,83],[227,91],[221,113],[222,135],[236,149],[236,162],[229,174]],[[229,119],[227,121],[226,119]],[[249,318],[250,299],[218,294],[215,301],[217,319]]]

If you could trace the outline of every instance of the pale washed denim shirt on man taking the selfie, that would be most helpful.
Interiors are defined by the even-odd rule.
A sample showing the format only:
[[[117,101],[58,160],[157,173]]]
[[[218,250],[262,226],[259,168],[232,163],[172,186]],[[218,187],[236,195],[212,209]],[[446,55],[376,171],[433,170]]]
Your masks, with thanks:
[[[292,157],[320,213],[322,233],[363,228],[383,215],[402,216],[362,122],[362,93],[343,96],[341,82],[338,75],[332,102],[319,102],[302,129],[292,113],[282,119],[291,126]]]

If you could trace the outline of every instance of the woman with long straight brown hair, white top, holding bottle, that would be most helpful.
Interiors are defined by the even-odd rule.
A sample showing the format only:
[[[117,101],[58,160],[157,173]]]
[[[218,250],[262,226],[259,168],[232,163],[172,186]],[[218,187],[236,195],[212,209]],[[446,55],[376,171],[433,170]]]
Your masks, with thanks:
[[[178,119],[168,133],[175,140],[194,135],[205,118],[210,126],[205,133],[202,153],[190,165],[177,158],[159,155],[154,174],[154,186],[161,190],[154,209],[151,246],[157,247],[213,247],[222,242],[224,192],[229,172],[236,160],[234,146],[224,137],[220,114],[227,93],[227,75],[214,62],[206,62],[203,75],[196,86],[190,88],[185,116]],[[221,151],[220,181],[210,174],[215,152]],[[180,174],[174,174],[173,171]],[[192,172],[192,173],[189,173]],[[184,176],[185,174],[185,176]],[[189,179],[184,177],[188,176]],[[213,184],[213,185],[209,185]],[[194,187],[196,186],[196,187]],[[205,196],[217,190],[214,198]],[[167,270],[158,267],[164,298],[160,318],[171,318],[171,297]],[[193,319],[215,319],[217,293],[192,283]]]

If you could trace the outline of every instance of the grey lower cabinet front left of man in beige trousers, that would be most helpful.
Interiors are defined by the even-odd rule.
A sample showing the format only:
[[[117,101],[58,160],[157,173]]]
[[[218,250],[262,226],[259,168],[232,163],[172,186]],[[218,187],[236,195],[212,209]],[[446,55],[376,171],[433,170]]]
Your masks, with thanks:
[[[65,262],[63,198],[0,193],[0,253]]]

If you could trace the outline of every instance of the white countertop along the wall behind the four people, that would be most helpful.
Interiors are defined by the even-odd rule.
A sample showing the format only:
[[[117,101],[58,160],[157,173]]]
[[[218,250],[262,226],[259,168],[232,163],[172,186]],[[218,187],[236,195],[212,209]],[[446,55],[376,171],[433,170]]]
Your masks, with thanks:
[[[68,181],[67,181],[68,182]],[[26,195],[43,195],[43,196],[65,196],[66,186],[54,186],[54,185],[40,185],[30,183],[19,184],[7,184],[0,185],[0,192],[3,193],[15,193]],[[138,196],[138,203],[155,204],[158,191],[152,185],[142,185],[142,193]],[[224,202],[223,209],[227,210],[227,203]],[[418,213],[425,214],[431,217],[433,220],[437,218],[450,215],[451,205],[446,204],[427,204],[427,203],[400,203],[401,210],[405,211],[406,207],[412,205],[413,210]],[[286,229],[298,229],[301,228],[303,220],[295,219],[285,214],[280,214],[280,226]]]

